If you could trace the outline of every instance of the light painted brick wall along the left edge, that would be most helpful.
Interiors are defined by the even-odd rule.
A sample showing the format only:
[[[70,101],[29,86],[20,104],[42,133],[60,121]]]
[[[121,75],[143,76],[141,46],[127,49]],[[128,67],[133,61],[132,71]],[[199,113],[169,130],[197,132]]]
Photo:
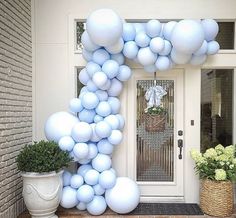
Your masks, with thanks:
[[[24,210],[15,157],[32,141],[31,1],[0,1],[0,218]]]

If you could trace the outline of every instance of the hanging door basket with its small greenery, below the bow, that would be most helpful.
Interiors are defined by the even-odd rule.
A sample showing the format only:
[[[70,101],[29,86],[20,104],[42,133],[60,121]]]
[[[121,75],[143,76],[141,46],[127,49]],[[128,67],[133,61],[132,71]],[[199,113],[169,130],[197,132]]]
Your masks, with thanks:
[[[144,110],[145,130],[147,132],[163,132],[165,129],[166,109],[162,106],[152,106]]]

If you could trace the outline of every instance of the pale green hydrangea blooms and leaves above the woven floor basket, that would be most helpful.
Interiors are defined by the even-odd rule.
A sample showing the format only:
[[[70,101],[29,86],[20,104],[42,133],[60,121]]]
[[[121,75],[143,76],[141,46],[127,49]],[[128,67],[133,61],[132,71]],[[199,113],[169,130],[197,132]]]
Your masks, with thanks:
[[[205,153],[192,149],[190,154],[195,161],[195,170],[200,179],[216,181],[236,180],[235,145],[223,147],[217,145],[209,148]]]

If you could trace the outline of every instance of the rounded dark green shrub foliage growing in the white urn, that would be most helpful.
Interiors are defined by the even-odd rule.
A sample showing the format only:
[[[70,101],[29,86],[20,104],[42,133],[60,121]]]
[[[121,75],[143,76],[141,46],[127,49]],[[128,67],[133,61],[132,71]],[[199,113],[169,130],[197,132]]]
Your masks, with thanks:
[[[16,158],[17,166],[23,172],[51,172],[67,167],[72,158],[55,142],[40,141],[26,145]]]

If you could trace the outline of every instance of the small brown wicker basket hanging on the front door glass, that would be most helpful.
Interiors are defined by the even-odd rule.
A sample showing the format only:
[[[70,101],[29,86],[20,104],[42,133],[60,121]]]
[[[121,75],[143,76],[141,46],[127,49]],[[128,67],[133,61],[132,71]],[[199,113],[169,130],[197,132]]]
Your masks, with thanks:
[[[145,130],[147,132],[163,132],[165,123],[165,114],[145,114]]]

